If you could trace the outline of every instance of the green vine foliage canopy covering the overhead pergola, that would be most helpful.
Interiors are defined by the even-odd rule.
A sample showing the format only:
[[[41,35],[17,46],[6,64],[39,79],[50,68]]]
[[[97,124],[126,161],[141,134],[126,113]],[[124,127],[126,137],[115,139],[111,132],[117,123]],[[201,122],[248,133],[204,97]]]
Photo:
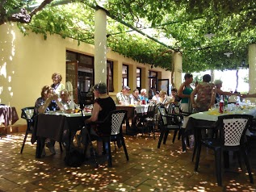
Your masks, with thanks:
[[[33,1],[10,0],[2,6],[2,17],[17,13]],[[68,3],[69,2],[69,3]],[[72,3],[70,3],[72,2]],[[174,48],[183,52],[183,72],[207,69],[237,69],[247,61],[248,44],[256,42],[256,3],[254,0],[54,0],[40,10],[29,24],[19,27],[27,35],[57,33],[80,42],[94,44],[94,9],[103,6],[115,19],[141,31],[154,29],[149,35],[161,40],[157,44],[123,24],[108,18],[107,46],[133,60],[170,69]],[[18,11],[19,12],[19,11]],[[211,39],[204,35],[215,34]],[[228,57],[225,52],[232,52]]]

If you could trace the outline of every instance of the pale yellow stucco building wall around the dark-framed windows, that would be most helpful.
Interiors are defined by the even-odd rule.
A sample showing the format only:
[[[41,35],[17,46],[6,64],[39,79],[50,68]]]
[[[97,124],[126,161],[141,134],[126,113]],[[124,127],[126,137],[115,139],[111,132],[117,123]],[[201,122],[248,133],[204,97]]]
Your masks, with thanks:
[[[15,106],[20,117],[21,108],[34,106],[36,98],[40,97],[40,90],[45,85],[52,84],[52,73],[61,73],[62,83],[65,84],[65,52],[71,50],[94,56],[94,46],[81,43],[73,39],[62,39],[60,35],[43,35],[29,33],[24,36],[15,23],[0,26],[0,102]],[[116,52],[107,52],[107,60],[114,61],[114,88],[115,94],[122,86],[122,64],[136,65],[147,72],[149,65],[140,64],[132,59],[120,56]],[[131,67],[132,69],[132,67]],[[170,72],[161,68],[154,71],[162,72],[162,78],[170,79]],[[132,72],[130,85],[136,88],[136,68]],[[97,74],[95,74],[97,75]],[[142,88],[149,89],[148,73],[142,77]],[[25,123],[19,119],[16,124]]]

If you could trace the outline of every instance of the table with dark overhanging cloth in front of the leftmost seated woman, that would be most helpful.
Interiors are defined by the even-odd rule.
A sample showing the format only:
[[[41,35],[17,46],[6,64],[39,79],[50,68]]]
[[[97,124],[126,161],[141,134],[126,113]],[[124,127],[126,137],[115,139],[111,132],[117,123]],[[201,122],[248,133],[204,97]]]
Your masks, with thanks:
[[[38,115],[35,131],[32,135],[34,142],[37,139],[36,158],[41,157],[46,138],[61,142],[65,146],[66,152],[69,152],[71,131],[81,130],[84,120],[90,118],[90,116],[91,113],[86,111],[73,114],[61,111],[49,111],[48,113]]]

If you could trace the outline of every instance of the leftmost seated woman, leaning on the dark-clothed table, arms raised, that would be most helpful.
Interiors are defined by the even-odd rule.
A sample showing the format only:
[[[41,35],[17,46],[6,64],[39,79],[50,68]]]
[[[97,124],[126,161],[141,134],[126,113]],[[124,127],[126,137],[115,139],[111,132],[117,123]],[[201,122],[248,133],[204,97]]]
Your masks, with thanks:
[[[47,111],[59,111],[64,110],[61,102],[58,101],[57,94],[53,94],[53,90],[50,86],[44,86],[41,91],[41,97],[37,98],[34,108],[34,115],[39,115]],[[55,140],[47,139],[46,147],[50,149],[52,154],[55,154],[54,149]],[[42,156],[45,156],[45,151],[43,149]]]

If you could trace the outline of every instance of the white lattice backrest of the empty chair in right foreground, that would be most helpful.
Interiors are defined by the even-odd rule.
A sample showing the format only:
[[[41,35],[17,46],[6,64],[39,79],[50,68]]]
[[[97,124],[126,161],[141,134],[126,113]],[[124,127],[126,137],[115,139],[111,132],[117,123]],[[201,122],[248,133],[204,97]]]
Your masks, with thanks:
[[[244,143],[244,136],[253,116],[221,115],[218,118],[220,139],[224,146],[238,146]]]

